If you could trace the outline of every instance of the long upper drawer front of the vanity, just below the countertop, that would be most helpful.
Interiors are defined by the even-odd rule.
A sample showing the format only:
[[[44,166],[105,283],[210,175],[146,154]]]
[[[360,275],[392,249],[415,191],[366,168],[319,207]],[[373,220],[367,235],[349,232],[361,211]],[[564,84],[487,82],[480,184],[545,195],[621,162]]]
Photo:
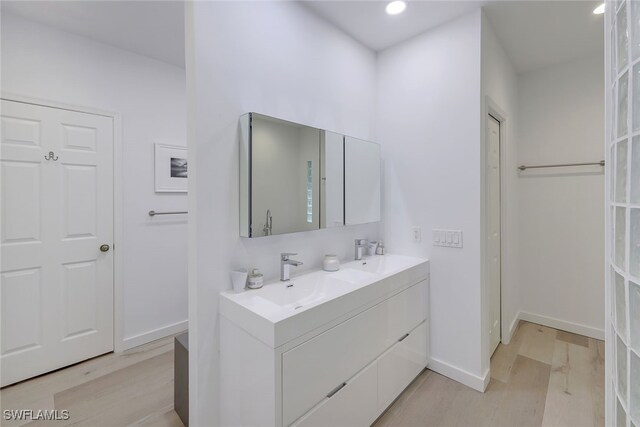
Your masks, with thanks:
[[[420,282],[282,355],[282,415],[291,424],[426,318]]]

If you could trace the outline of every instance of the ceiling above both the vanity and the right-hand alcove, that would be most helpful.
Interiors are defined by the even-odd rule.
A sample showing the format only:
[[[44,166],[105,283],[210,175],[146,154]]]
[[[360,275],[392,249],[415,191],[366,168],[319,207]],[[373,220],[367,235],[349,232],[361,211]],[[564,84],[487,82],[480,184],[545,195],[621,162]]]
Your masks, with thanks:
[[[383,50],[478,7],[518,72],[604,52],[602,0],[408,1],[389,16],[387,1],[305,0],[309,9],[373,50]]]

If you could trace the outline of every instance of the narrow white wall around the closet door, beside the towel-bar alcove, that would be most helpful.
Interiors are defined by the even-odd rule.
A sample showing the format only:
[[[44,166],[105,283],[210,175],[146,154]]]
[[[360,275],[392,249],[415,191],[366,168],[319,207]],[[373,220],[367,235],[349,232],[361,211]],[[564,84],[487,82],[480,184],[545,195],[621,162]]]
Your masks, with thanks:
[[[491,24],[482,16],[482,120],[483,129],[486,126],[485,120],[491,109],[490,106],[497,107],[499,113],[504,114],[505,119],[501,123],[503,133],[501,142],[501,204],[502,204],[502,277],[501,277],[501,300],[502,300],[502,342],[508,343],[511,334],[517,326],[518,314],[520,311],[520,283],[518,271],[518,139],[517,127],[518,117],[518,76],[507,57],[504,49],[500,45]],[[495,111],[494,111],[495,114]],[[484,138],[486,132],[481,132],[483,147],[486,147]],[[485,148],[483,148],[483,155]],[[484,195],[482,197],[484,200]],[[484,211],[484,208],[483,208]],[[484,220],[483,220],[484,224]],[[483,236],[483,240],[486,236]],[[484,263],[484,260],[483,260]],[[488,291],[488,289],[485,289]],[[489,313],[490,301],[488,293],[485,295],[485,333],[490,328]],[[489,348],[484,353],[489,357]]]

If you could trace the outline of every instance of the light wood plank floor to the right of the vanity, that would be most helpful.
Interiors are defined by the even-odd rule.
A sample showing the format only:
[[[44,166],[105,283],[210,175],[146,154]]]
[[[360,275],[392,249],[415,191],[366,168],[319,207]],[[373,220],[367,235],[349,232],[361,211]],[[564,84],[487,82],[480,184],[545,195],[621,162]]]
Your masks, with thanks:
[[[375,426],[604,426],[604,342],[520,322],[485,393],[426,370]]]

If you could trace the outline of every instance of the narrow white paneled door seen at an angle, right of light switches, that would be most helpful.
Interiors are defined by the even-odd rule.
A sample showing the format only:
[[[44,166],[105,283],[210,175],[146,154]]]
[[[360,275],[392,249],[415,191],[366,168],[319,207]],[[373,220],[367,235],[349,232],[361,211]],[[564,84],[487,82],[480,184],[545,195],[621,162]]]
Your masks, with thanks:
[[[487,272],[490,298],[489,345],[500,343],[500,122],[487,116]]]

